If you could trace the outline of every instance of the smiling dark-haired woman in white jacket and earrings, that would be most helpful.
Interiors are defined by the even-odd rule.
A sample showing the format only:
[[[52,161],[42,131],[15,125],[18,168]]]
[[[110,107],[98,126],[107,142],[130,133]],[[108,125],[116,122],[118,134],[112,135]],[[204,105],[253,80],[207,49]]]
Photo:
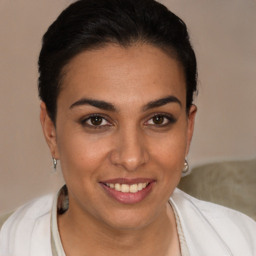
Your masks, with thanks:
[[[254,255],[247,216],[175,189],[196,60],[154,0],[80,0],[43,36],[40,120],[66,185],[18,209],[0,255]]]

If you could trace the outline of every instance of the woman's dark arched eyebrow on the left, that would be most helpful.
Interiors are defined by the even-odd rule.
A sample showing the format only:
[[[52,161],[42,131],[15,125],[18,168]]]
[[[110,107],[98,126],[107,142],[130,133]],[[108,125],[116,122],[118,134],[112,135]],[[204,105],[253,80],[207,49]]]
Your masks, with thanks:
[[[81,105],[91,105],[104,110],[118,112],[118,108],[112,103],[109,103],[103,100],[91,99],[91,98],[80,98],[79,100],[72,103],[69,106],[69,109],[74,108],[76,106],[81,106]]]

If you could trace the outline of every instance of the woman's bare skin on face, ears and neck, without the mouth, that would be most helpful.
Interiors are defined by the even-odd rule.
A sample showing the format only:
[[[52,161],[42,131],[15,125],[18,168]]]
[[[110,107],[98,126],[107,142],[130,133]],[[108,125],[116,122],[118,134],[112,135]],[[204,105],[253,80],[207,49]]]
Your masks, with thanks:
[[[44,102],[40,120],[68,187],[69,208],[58,216],[66,255],[180,255],[167,200],[181,176],[196,107],[186,113],[179,62],[150,45],[108,45],[74,57],[62,85],[56,126]],[[166,96],[177,100],[148,107]],[[75,103],[84,97],[115,109]],[[101,125],[93,126],[90,114],[102,115]],[[112,178],[149,178],[153,185],[143,200],[121,203],[100,185]]]

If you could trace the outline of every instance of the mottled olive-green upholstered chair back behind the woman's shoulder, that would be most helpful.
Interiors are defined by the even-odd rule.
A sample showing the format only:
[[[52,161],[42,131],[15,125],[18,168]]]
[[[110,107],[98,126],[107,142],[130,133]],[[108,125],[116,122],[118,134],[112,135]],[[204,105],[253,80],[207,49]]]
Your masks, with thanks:
[[[256,158],[192,168],[178,188],[195,198],[236,209],[256,220]]]

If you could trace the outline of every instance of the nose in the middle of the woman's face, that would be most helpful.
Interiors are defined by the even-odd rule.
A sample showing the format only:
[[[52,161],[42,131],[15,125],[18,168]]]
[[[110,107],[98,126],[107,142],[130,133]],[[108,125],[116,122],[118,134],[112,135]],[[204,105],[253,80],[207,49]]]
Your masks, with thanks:
[[[150,155],[146,141],[138,131],[126,130],[115,138],[116,143],[110,154],[112,164],[128,171],[135,171],[148,163]]]

